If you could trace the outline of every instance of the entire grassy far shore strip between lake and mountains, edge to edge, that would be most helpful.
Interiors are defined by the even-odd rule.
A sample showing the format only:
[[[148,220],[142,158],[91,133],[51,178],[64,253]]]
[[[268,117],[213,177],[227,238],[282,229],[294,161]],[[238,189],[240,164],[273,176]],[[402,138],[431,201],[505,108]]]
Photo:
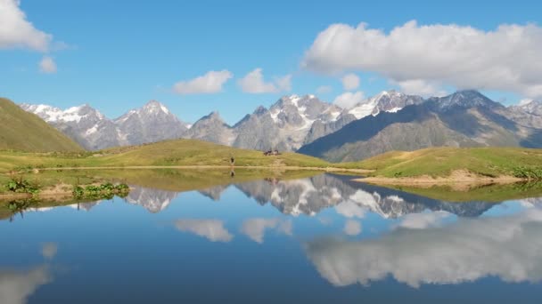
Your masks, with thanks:
[[[228,171],[320,171],[364,175],[380,185],[428,188],[432,185],[514,183],[542,180],[542,149],[425,148],[392,151],[356,163],[333,164],[312,156],[231,148],[201,140],[166,140],[96,152],[25,153],[0,151],[0,184],[24,173],[45,187],[74,184],[68,171],[123,169]],[[33,173],[33,174],[32,174]],[[56,178],[54,178],[56,174]],[[80,177],[86,179],[88,175]],[[91,184],[86,180],[83,184]],[[96,182],[94,180],[94,182]],[[2,189],[0,189],[2,192]]]

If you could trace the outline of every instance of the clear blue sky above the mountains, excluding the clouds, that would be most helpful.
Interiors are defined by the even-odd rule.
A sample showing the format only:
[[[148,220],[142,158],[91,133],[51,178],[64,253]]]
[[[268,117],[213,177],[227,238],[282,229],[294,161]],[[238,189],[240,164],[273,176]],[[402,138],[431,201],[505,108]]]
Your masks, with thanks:
[[[0,0],[0,5],[12,1]],[[337,71],[302,66],[316,36],[332,24],[356,28],[365,22],[368,28],[381,29],[385,34],[410,20],[416,20],[419,27],[456,24],[481,32],[496,30],[502,24],[531,24],[536,40],[540,38],[541,6],[536,1],[502,5],[492,1],[22,0],[19,9],[26,14],[26,20],[53,39],[47,50],[37,50],[2,44],[2,35],[9,33],[0,30],[0,95],[16,102],[61,108],[89,103],[111,118],[148,100],[160,100],[188,122],[218,110],[233,124],[257,106],[269,106],[285,94],[314,93],[331,102],[347,91],[362,92],[367,97],[391,88],[401,90],[406,86],[399,85],[399,78],[406,81],[420,77],[382,65],[371,70],[365,68],[366,63],[342,62]],[[496,47],[488,45],[488,53]],[[480,56],[488,53],[480,52]],[[316,63],[328,64],[328,55],[332,56],[315,52]],[[40,71],[38,63],[44,57],[51,57],[56,71]],[[261,68],[265,81],[275,90],[242,92],[240,79],[256,68]],[[223,70],[230,77],[218,92],[179,94],[173,89],[177,82]],[[521,76],[526,78],[528,72],[521,70]],[[348,73],[360,80],[351,90],[345,90],[341,83],[341,77]],[[537,75],[535,71],[529,76],[533,73]],[[432,74],[423,74],[424,82],[426,75]],[[290,76],[290,85],[282,87],[275,80],[284,76]],[[456,89],[456,76],[435,77],[439,92]],[[538,98],[538,83],[528,87],[523,82],[502,89],[498,82],[481,85],[483,92],[505,103]],[[329,88],[317,92],[322,86]],[[408,86],[410,91],[419,87]]]

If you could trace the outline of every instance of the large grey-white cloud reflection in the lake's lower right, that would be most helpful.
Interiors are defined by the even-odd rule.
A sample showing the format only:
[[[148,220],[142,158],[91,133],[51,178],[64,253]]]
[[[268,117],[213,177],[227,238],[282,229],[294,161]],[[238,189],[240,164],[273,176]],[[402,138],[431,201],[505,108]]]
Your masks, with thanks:
[[[438,228],[398,228],[377,239],[315,240],[308,259],[331,284],[369,284],[389,276],[418,287],[486,276],[505,282],[542,280],[542,210],[461,219]],[[494,254],[485,254],[492,252]]]

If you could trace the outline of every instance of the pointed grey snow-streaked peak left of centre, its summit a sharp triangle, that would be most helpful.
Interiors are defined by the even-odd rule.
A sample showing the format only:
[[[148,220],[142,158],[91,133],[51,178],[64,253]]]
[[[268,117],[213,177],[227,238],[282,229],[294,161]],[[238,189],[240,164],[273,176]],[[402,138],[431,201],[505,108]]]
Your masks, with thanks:
[[[156,100],[128,111],[113,123],[119,129],[119,138],[129,145],[178,139],[187,130],[185,123]]]

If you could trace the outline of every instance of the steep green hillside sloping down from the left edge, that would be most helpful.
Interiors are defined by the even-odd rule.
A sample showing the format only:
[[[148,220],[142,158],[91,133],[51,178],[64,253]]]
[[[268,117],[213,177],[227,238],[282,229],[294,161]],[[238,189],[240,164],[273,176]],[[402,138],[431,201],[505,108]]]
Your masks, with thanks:
[[[0,149],[21,151],[80,151],[82,148],[41,118],[0,98]]]

